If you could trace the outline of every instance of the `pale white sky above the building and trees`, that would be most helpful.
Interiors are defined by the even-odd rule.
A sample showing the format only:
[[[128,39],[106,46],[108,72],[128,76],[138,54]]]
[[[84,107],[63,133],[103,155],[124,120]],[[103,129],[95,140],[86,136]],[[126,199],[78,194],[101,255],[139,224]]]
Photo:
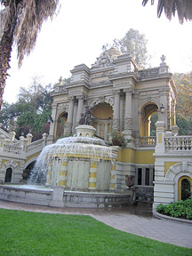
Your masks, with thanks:
[[[60,0],[59,15],[44,23],[34,51],[20,69],[13,50],[3,100],[15,102],[20,86],[28,88],[34,76],[41,76],[44,85],[55,84],[78,64],[91,68],[102,45],[123,38],[130,28],[148,39],[152,67],[159,66],[164,54],[172,73],[191,71],[192,21],[180,25],[178,17],[169,21],[164,13],[158,19],[156,4],[149,2],[143,7],[142,0]]]

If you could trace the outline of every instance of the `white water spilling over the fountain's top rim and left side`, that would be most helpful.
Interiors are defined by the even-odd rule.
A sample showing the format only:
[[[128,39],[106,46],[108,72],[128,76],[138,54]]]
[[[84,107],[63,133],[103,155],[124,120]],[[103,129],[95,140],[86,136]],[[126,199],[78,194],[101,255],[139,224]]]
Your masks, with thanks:
[[[44,185],[46,182],[47,171],[50,159],[54,160],[52,173],[52,184],[59,180],[60,158],[67,154],[73,154],[78,158],[79,155],[92,156],[96,158],[112,158],[112,150],[105,141],[87,137],[67,137],[57,140],[55,144],[46,146],[36,160],[34,169],[31,171],[28,184]],[[60,157],[58,157],[60,156]]]

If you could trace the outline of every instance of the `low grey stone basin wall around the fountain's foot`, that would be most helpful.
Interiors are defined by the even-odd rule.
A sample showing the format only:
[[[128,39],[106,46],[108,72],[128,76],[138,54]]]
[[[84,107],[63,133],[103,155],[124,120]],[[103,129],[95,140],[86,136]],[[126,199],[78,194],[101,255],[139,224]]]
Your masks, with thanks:
[[[132,204],[132,191],[124,193],[112,192],[81,192],[63,191],[62,198],[57,204],[52,204],[53,189],[28,187],[27,185],[0,185],[0,199],[24,204],[37,204],[57,207],[79,208],[109,208],[121,207]]]

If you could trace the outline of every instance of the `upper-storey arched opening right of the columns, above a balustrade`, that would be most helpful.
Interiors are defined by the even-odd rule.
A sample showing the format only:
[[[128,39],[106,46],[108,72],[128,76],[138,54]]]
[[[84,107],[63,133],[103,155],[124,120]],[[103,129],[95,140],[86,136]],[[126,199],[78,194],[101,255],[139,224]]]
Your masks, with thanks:
[[[142,134],[141,136],[153,136],[151,135],[151,118],[155,114],[157,115],[157,109],[158,107],[156,106],[155,103],[149,103],[142,109]],[[157,116],[158,119],[158,116]],[[153,118],[152,118],[153,120]],[[155,127],[153,127],[153,130]]]

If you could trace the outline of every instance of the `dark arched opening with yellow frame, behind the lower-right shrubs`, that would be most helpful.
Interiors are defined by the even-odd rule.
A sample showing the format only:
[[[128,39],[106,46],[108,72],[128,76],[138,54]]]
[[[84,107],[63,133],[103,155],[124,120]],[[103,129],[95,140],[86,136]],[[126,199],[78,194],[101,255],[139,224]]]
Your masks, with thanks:
[[[188,176],[180,177],[178,181],[179,195],[178,200],[186,200],[191,197],[192,193],[192,180]]]

